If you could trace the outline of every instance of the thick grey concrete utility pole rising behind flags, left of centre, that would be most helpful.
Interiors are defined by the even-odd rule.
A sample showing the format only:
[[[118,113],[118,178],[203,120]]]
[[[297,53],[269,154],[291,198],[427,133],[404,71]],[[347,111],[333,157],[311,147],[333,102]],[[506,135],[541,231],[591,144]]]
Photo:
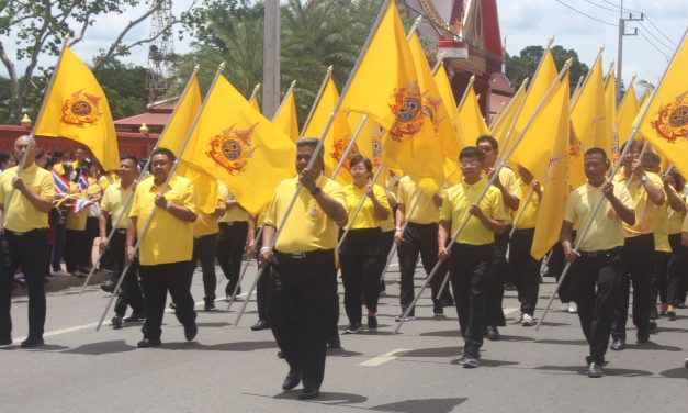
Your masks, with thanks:
[[[272,119],[280,105],[280,0],[264,2],[262,113]]]

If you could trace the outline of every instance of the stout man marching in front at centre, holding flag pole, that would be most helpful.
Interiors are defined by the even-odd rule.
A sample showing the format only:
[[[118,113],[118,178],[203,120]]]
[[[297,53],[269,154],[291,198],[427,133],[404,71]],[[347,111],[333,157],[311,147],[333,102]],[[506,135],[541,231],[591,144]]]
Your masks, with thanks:
[[[282,389],[291,390],[303,381],[302,400],[317,398],[323,383],[337,294],[337,225],[347,222],[345,190],[323,176],[323,152],[315,154],[317,145],[316,138],[296,143],[298,177],[277,187],[260,249],[261,266],[272,263],[268,322],[290,367]],[[313,168],[306,168],[314,156]],[[298,183],[303,190],[271,252]]]

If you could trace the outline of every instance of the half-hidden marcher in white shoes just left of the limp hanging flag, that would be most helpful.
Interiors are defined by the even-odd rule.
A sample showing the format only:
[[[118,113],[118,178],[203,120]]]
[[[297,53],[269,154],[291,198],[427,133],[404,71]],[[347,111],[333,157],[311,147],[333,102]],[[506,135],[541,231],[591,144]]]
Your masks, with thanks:
[[[540,182],[533,181],[533,176],[528,169],[520,165],[517,169],[521,193],[533,191],[528,203],[523,201],[519,205],[516,216],[519,216],[522,210],[521,219],[515,223],[516,230],[509,241],[509,271],[518,291],[518,301],[521,303],[521,325],[528,327],[534,324],[533,314],[540,291],[540,265],[542,260],[533,258],[530,255],[530,249],[535,235],[542,187]]]

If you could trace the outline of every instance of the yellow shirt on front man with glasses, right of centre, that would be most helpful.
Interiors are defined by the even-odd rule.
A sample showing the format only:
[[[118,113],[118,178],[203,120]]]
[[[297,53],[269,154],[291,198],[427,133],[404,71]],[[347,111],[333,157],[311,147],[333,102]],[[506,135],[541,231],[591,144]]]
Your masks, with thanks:
[[[459,230],[466,215],[469,215],[471,205],[477,203],[477,198],[481,196],[486,185],[487,181],[485,179],[481,179],[473,185],[462,181],[451,187],[444,193],[444,202],[442,202],[442,209],[440,210],[440,220],[451,222],[450,236]],[[501,192],[496,187],[489,187],[478,206],[488,217],[497,221],[506,221],[507,212],[504,208]],[[469,217],[466,226],[459,235],[459,238],[456,238],[456,244],[485,245],[494,242],[495,233],[487,230],[487,227],[473,215]]]

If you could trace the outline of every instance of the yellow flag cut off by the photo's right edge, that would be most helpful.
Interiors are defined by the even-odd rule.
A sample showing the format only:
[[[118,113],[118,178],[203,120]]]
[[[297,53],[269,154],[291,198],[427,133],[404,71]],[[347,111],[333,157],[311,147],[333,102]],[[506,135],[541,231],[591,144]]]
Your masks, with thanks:
[[[676,169],[688,177],[688,42],[686,35],[674,59],[666,69],[647,113],[641,112],[634,124]]]

